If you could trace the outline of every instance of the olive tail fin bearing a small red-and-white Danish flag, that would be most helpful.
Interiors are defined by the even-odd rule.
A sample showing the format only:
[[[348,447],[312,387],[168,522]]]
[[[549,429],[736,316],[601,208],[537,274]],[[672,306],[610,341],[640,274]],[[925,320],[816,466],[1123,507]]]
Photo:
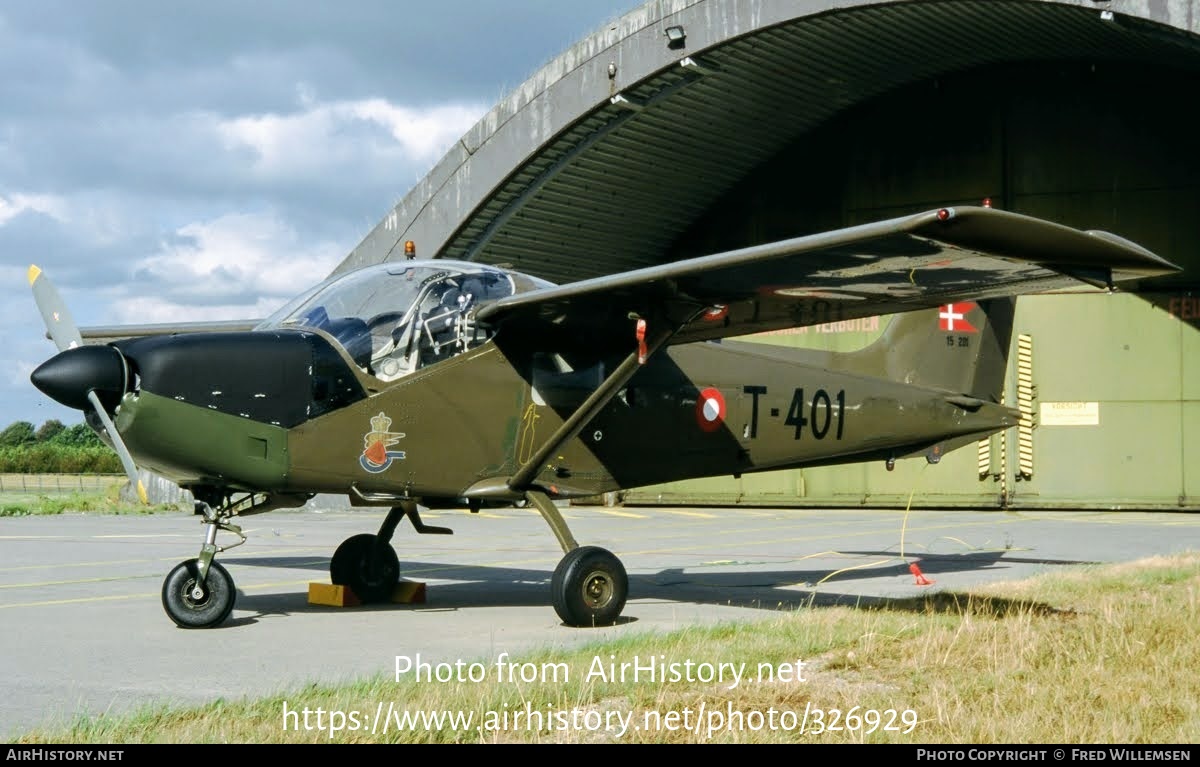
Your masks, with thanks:
[[[1000,402],[1015,310],[1015,298],[998,298],[898,314],[839,367]]]

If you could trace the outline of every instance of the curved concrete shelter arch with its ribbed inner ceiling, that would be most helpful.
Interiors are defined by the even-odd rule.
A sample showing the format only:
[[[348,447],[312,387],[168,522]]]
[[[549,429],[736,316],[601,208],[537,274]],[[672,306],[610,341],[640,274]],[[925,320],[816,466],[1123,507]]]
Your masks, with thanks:
[[[1200,71],[1198,32],[1198,0],[655,0],[502,100],[335,271],[406,240],[556,281],[659,263],[751,170],[884,92],[1037,60]]]

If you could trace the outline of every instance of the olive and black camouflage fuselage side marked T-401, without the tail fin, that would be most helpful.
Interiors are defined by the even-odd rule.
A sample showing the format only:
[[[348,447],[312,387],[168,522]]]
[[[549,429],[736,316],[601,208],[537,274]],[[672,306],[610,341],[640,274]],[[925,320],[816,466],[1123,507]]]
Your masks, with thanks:
[[[997,405],[806,365],[804,356],[732,342],[666,348],[536,467],[533,484],[572,497],[886,460],[1016,421]],[[614,364],[544,370],[487,343],[391,384],[364,373],[370,396],[292,429],[145,391],[126,395],[116,423],[139,465],[184,486],[503,498],[505,480]]]

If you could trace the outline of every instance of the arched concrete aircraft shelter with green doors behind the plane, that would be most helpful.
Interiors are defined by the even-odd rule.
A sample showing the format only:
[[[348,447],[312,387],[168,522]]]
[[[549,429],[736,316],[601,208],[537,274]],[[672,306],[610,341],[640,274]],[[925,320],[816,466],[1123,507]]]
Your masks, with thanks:
[[[1184,271],[1022,298],[1020,427],[929,468],[626,501],[1200,508],[1198,96],[1200,0],[655,0],[503,98],[336,271],[413,240],[566,282],[984,198],[1108,229]],[[762,341],[852,349],[884,323]]]

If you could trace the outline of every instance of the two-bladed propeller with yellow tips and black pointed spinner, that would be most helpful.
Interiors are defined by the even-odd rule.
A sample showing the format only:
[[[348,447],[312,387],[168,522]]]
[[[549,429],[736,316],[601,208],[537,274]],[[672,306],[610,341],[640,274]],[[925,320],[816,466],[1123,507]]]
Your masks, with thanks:
[[[49,277],[37,266],[29,268],[29,284],[37,308],[42,312],[46,330],[59,348],[59,354],[35,370],[30,380],[43,394],[67,407],[83,411],[91,406],[121,459],[130,485],[137,490],[142,503],[150,503],[133,456],[101,401],[101,395],[119,399],[125,393],[128,374],[125,359],[114,347],[83,346],[83,337],[66,304]]]

